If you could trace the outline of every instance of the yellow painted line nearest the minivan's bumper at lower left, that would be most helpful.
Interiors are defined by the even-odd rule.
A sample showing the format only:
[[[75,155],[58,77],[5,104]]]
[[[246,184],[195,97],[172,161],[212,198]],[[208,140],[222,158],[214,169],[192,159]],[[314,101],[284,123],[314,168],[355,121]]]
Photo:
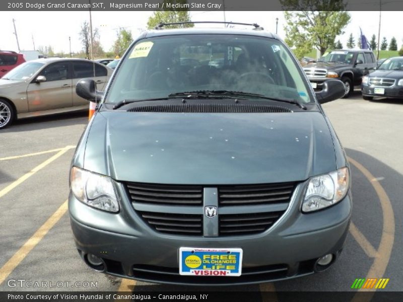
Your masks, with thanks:
[[[11,274],[11,272],[24,260],[31,250],[43,239],[49,230],[67,211],[67,200],[46,220],[45,223],[35,232],[34,235],[0,268],[0,284]]]

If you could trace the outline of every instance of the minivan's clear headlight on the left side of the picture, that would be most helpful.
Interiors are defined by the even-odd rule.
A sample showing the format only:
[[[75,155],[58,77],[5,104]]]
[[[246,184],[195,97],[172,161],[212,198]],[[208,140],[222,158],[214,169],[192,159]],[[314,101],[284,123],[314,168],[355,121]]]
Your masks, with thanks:
[[[110,177],[73,167],[70,180],[73,194],[81,202],[109,212],[119,210]]]

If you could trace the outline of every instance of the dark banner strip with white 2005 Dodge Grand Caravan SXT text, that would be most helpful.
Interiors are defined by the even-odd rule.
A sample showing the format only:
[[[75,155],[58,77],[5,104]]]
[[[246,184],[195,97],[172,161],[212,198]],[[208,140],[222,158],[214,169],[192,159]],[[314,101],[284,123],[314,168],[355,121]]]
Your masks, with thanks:
[[[329,5],[330,3],[330,5]],[[345,7],[341,9],[341,5]],[[403,11],[403,0],[2,0],[0,11]]]

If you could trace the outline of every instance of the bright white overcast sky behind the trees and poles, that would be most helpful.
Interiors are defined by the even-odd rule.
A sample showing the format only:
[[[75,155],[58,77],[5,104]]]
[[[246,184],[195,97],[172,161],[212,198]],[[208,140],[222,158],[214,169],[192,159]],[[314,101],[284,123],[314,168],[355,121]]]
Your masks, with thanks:
[[[92,12],[93,28],[98,28],[100,41],[105,51],[111,50],[116,39],[117,29],[123,27],[131,30],[136,37],[147,27],[147,20],[153,12]],[[192,21],[224,21],[224,12],[190,12]],[[345,29],[345,34],[337,37],[346,47],[350,33],[357,42],[360,27],[367,39],[373,34],[378,35],[379,12],[350,12],[351,21]],[[14,35],[13,18],[16,20],[16,30],[21,50],[51,45],[54,52],[69,52],[69,37],[71,37],[72,52],[79,52],[82,45],[79,38],[81,24],[89,21],[89,12],[8,12],[0,18],[0,49],[18,51]],[[381,40],[386,37],[388,43],[394,36],[398,49],[403,44],[401,31],[402,12],[382,12]],[[276,18],[279,18],[278,33],[285,38],[283,12],[225,12],[226,21],[258,23],[265,30],[276,32]],[[217,25],[222,26],[222,25]]]

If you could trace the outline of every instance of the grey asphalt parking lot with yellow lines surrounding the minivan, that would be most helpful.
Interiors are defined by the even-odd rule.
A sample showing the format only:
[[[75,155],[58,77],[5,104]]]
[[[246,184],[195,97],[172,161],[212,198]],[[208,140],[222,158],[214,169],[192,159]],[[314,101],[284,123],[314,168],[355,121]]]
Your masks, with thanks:
[[[323,108],[352,169],[354,209],[341,257],[320,274],[221,289],[356,291],[351,289],[356,278],[389,278],[382,290],[401,290],[403,102],[364,101],[356,91]],[[86,113],[65,114],[21,120],[0,130],[0,291],[183,289],[122,281],[91,270],[80,259],[65,201],[74,147],[87,122]]]

